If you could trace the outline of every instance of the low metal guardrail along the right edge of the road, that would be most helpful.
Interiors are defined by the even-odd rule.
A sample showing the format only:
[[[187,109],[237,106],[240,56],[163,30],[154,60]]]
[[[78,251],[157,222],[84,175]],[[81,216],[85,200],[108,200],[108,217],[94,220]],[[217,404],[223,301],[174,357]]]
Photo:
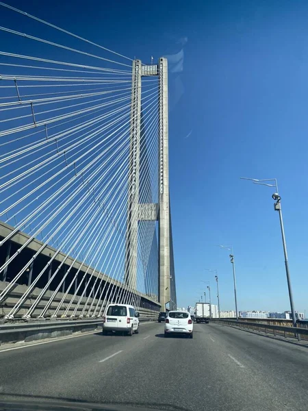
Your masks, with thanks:
[[[252,323],[250,321],[236,321],[229,319],[211,319],[211,322],[231,327],[240,327],[251,329],[257,332],[265,332],[265,334],[273,334],[274,336],[284,336],[284,338],[294,337],[300,341],[302,338],[308,340],[308,328],[301,327],[285,327],[283,325],[271,325],[262,323]]]

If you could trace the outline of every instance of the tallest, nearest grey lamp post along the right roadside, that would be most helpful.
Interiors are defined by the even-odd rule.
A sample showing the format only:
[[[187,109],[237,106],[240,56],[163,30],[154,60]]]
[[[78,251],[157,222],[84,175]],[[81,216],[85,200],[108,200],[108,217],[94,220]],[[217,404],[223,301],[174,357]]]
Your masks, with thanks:
[[[291,306],[291,313],[292,313],[292,325],[293,327],[296,327],[296,315],[295,315],[295,310],[294,310],[292,285],[291,285],[291,279],[290,279],[289,263],[287,261],[287,244],[285,242],[285,229],[283,227],[283,216],[281,212],[281,197],[278,191],[277,179],[276,178],[256,179],[256,178],[248,178],[248,177],[240,177],[240,178],[251,180],[254,184],[259,184],[261,186],[273,187],[276,190],[274,194],[272,195],[272,199],[275,201],[274,210],[279,212],[281,238],[283,242],[283,253],[285,255],[285,273],[287,275],[287,289],[289,291],[290,306]],[[273,182],[274,184],[269,183],[269,182]]]

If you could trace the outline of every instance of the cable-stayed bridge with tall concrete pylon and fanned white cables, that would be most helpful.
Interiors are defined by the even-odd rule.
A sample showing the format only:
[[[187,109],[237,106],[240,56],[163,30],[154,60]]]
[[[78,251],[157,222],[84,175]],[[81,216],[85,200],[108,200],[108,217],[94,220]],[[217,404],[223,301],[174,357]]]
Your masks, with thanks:
[[[39,36],[0,27],[0,316],[176,308],[167,60],[5,7]]]

